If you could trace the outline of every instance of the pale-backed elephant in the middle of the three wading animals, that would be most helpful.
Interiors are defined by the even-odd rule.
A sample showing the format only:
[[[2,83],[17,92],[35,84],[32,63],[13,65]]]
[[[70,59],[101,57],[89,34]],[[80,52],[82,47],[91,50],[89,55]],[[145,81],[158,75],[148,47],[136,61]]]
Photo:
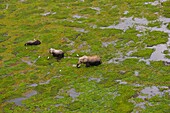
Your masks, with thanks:
[[[62,50],[56,50],[56,49],[50,48],[49,53],[52,54],[53,57],[56,57],[57,60],[64,58],[64,52]]]

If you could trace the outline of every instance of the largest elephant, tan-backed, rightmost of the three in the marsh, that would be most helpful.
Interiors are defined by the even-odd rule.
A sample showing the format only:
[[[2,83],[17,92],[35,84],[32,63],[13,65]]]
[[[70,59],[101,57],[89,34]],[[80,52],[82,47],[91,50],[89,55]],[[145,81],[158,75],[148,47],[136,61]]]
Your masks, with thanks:
[[[102,63],[101,58],[97,55],[95,56],[82,56],[79,58],[77,63],[77,68],[80,68],[81,64],[86,64],[86,67],[98,66]]]

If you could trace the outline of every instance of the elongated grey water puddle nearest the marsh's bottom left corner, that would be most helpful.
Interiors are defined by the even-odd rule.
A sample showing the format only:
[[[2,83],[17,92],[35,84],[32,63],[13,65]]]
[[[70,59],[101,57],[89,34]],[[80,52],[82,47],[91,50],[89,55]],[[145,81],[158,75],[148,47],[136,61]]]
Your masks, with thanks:
[[[23,100],[26,100],[26,99],[28,99],[28,98],[36,95],[36,94],[37,94],[37,91],[32,90],[31,92],[26,93],[24,97],[15,98],[15,99],[9,100],[7,102],[14,102],[17,106],[22,106],[23,105],[22,104]]]

